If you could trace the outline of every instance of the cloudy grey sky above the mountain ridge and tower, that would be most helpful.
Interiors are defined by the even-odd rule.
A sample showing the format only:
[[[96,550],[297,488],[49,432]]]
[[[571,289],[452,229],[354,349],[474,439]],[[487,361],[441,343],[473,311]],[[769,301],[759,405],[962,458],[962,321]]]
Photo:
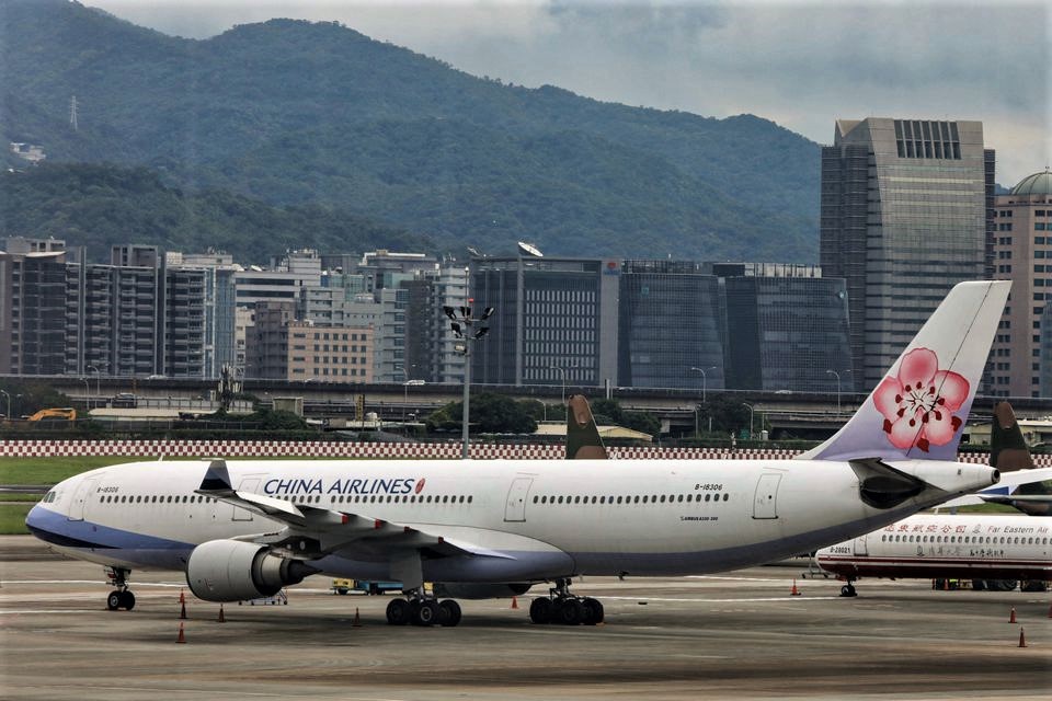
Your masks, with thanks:
[[[998,183],[1052,165],[1052,0],[81,1],[187,38],[339,21],[476,76],[751,113],[819,143],[837,118],[976,119]]]

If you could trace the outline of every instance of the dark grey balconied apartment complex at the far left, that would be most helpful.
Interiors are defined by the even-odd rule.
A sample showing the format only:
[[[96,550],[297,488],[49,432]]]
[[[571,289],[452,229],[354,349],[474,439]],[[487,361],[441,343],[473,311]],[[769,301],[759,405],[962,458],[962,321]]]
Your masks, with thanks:
[[[0,255],[0,371],[205,375],[202,269],[169,269],[156,246],[114,246],[104,265],[53,243]]]

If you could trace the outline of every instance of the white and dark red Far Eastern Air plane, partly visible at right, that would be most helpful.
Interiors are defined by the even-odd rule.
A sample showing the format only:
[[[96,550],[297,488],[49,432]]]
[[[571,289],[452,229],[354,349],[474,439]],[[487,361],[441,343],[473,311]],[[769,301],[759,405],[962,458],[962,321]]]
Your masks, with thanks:
[[[820,567],[859,577],[1052,581],[1052,519],[1011,514],[918,514],[819,550]]]

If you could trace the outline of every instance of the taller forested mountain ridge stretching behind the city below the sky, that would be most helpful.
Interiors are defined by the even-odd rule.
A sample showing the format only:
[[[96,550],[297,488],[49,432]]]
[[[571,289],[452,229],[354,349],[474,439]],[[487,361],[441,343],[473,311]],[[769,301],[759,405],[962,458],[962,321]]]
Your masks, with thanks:
[[[50,162],[146,166],[186,192],[382,221],[435,251],[817,257],[819,147],[758,117],[505,85],[335,23],[191,41],[64,0],[0,0],[0,138]]]

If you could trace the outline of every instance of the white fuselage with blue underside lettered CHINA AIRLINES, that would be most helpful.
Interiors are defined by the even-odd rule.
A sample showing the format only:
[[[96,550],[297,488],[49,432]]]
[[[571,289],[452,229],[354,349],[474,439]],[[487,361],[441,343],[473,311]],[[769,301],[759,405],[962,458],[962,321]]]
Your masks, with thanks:
[[[283,524],[196,493],[207,461],[101,468],[57,485],[27,519],[56,549],[105,565],[185,570],[201,543]],[[477,556],[423,558],[435,582],[530,582],[569,574],[725,571],[865,533],[927,503],[986,486],[983,466],[918,461],[945,490],[894,508],[859,498],[833,461],[231,461],[239,491],[353,514],[470,543]],[[821,494],[820,498],[816,495]],[[485,556],[488,552],[494,556]],[[333,576],[387,578],[368,537],[311,564]]]

